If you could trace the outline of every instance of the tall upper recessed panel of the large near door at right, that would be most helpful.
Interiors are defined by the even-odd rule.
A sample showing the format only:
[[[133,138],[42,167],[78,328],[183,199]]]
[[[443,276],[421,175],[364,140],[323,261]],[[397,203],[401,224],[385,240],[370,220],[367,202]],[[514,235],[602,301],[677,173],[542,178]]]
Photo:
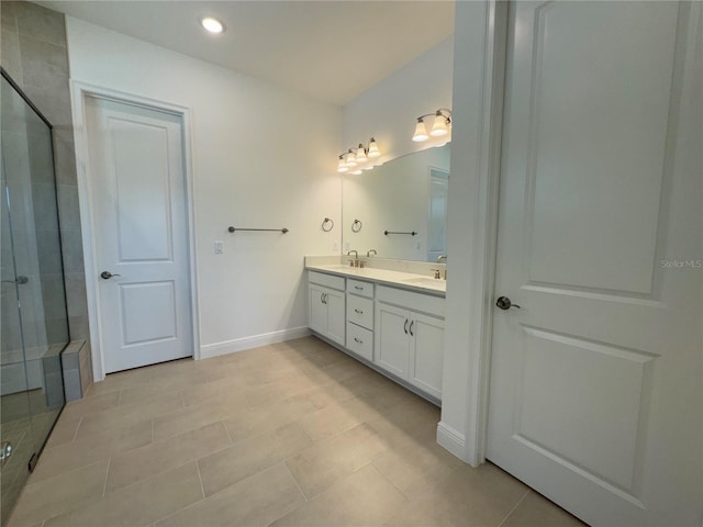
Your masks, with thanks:
[[[628,7],[611,7],[611,10],[613,9],[627,10]],[[532,42],[531,79],[528,86],[525,86],[528,94],[524,96],[529,100],[526,104],[529,132],[525,156],[528,190],[525,193],[527,206],[524,221],[527,258],[524,262],[525,277],[531,281],[555,287],[581,287],[618,291],[624,295],[654,298],[654,287],[659,281],[658,274],[661,273],[661,268],[657,265],[657,255],[661,253],[662,239],[652,233],[657,232],[656,225],[663,221],[668,213],[668,208],[662,206],[668,201],[660,190],[667,187],[666,180],[671,177],[671,171],[666,170],[670,165],[668,158],[671,156],[671,148],[667,148],[667,144],[671,143],[668,141],[672,130],[670,113],[677,106],[671,54],[677,38],[678,8],[674,4],[662,4],[660,11],[662,13],[659,19],[669,19],[667,23],[657,19],[657,24],[652,24],[651,33],[658,32],[652,38],[661,43],[658,48],[660,51],[651,54],[645,53],[644,49],[627,49],[627,58],[635,64],[631,65],[629,70],[620,70],[618,75],[610,75],[611,70],[617,69],[616,63],[622,57],[609,56],[609,53],[612,53],[609,38],[622,38],[623,27],[615,23],[614,19],[610,20],[600,4],[547,2],[534,11],[535,36]],[[631,15],[639,15],[643,19],[651,16],[649,13],[636,12]],[[582,20],[589,16],[600,18],[595,25],[599,31],[596,40],[592,38],[592,27],[577,32],[565,32],[560,29],[569,23],[570,19]],[[550,30],[549,38],[545,36],[547,29]],[[632,21],[627,31],[634,32],[636,36],[637,32],[643,30],[638,27],[638,21]],[[572,58],[576,57],[569,56],[572,49],[578,49],[580,60],[587,58],[581,55],[589,54],[592,68],[598,75],[570,75],[569,69],[578,68],[573,66],[576,59]],[[661,64],[665,67],[661,67]],[[641,77],[641,71],[647,67],[647,79],[641,82],[646,88],[640,90],[644,93],[634,97],[637,93],[632,90],[635,82],[628,76]],[[579,81],[570,82],[570,78],[578,78]],[[587,90],[583,83],[588,85],[591,92],[599,93],[604,102],[603,109],[581,104],[579,90]],[[649,108],[646,114],[639,111],[644,96]],[[613,112],[615,104],[617,112]],[[613,119],[614,113],[618,116],[625,114],[627,119]],[[650,114],[651,116],[647,117]],[[565,126],[565,123],[584,121],[585,125]],[[632,122],[637,123],[641,131],[648,132],[633,134],[627,130],[627,124],[623,125]],[[600,142],[593,134],[595,128],[612,133],[613,128],[618,127],[623,130],[618,134],[621,141],[617,145],[605,141],[607,134],[602,134],[603,139]],[[589,145],[589,148],[583,148],[582,145]],[[569,152],[572,158],[570,167],[567,170],[558,170],[558,167],[554,166],[545,167],[544,150]],[[625,164],[624,158],[627,158]],[[589,184],[596,180],[604,190],[607,189],[602,192],[601,206],[596,214],[593,214],[592,210],[579,208],[579,186],[582,184],[579,180],[585,181],[585,178],[580,178],[584,172],[590,175]],[[621,184],[610,186],[615,178]],[[658,188],[650,183],[638,184],[643,178],[657,181]],[[547,181],[540,182],[540,179]],[[650,190],[645,192],[643,189],[647,187]],[[556,197],[558,199],[555,199]],[[537,209],[549,208],[544,222],[535,216],[536,201],[540,202]],[[628,206],[613,206],[618,202]],[[632,202],[639,206],[631,208]],[[559,225],[559,229],[555,229],[549,223],[553,217],[549,213],[558,213],[565,208],[572,212],[572,222],[570,225]],[[598,225],[591,225],[593,223]],[[548,224],[549,232],[540,234],[543,228],[539,228],[539,224]],[[645,229],[639,227],[643,224],[652,226],[646,229],[646,235],[643,235]],[[603,225],[609,225],[610,228],[603,228]],[[553,243],[555,235],[559,236],[560,233],[563,234],[559,238],[563,242],[561,253],[542,258],[545,251],[539,250],[539,246]],[[598,236],[592,233],[598,233]],[[569,242],[566,239],[568,237],[573,240]],[[612,261],[601,261],[594,257],[598,253],[594,249],[604,244],[607,244],[609,251],[613,253]],[[556,260],[567,265],[550,265]],[[548,281],[544,279],[547,276],[560,276],[561,279]]]

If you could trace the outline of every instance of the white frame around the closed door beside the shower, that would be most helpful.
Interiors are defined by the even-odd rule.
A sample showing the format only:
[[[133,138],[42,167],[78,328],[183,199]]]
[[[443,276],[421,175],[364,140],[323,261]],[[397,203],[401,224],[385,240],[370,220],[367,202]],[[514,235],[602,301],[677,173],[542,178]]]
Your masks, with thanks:
[[[193,145],[191,134],[192,111],[190,108],[165,101],[125,93],[119,90],[89,85],[76,80],[70,81],[70,96],[74,120],[74,141],[76,143],[76,168],[78,176],[78,201],[80,208],[80,227],[83,246],[83,267],[86,272],[86,296],[88,300],[88,323],[90,326],[90,344],[92,358],[92,380],[104,380],[104,351],[102,332],[100,329],[100,299],[98,292],[99,270],[93,244],[94,208],[90,197],[92,189],[89,177],[88,131],[86,123],[86,103],[88,98],[114,101],[123,104],[154,110],[176,115],[181,121],[183,134],[183,175],[186,178],[186,220],[188,222],[188,266],[190,279],[190,312],[192,324],[193,359],[200,357],[200,309],[198,301],[198,258],[196,239],[196,200],[193,184]]]

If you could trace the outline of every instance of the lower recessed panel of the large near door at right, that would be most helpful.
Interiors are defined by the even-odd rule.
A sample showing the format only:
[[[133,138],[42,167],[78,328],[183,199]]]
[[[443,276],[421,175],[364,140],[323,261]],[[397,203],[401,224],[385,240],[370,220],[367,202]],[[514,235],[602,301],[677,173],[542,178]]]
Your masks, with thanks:
[[[658,356],[535,327],[522,332],[513,437],[637,498]],[[607,414],[595,419],[602,407]]]

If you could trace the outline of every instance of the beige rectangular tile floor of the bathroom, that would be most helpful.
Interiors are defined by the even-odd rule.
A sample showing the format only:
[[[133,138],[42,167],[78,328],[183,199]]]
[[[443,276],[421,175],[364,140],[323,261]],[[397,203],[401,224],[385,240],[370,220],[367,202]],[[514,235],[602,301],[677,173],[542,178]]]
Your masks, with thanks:
[[[582,525],[438,419],[314,337],[116,373],[66,406],[10,525]]]

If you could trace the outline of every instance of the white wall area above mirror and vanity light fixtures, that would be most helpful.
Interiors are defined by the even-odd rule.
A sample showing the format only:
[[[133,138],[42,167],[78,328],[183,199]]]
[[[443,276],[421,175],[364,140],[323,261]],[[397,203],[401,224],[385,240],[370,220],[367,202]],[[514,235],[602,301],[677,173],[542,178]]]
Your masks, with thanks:
[[[378,142],[383,162],[444,143],[446,137],[414,143],[412,136],[417,116],[451,108],[453,59],[454,37],[449,37],[347,103],[344,144],[337,155],[370,137]]]

